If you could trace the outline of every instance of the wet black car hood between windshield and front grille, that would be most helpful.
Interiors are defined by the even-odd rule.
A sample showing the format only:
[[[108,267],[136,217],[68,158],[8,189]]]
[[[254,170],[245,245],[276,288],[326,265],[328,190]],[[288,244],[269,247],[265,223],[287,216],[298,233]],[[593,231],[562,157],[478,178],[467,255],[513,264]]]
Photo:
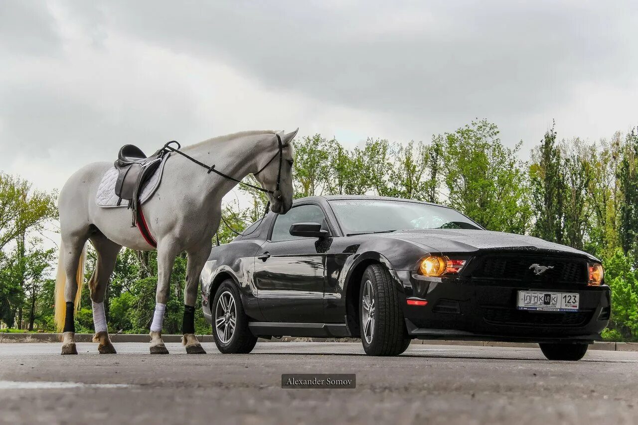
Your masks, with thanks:
[[[555,251],[577,254],[592,259],[588,253],[575,250],[569,246],[547,242],[538,237],[517,235],[512,233],[491,232],[489,230],[465,229],[426,229],[401,230],[385,237],[401,239],[403,241],[420,244],[431,251],[440,252],[474,252],[480,250],[498,250],[504,248],[511,251]]]

